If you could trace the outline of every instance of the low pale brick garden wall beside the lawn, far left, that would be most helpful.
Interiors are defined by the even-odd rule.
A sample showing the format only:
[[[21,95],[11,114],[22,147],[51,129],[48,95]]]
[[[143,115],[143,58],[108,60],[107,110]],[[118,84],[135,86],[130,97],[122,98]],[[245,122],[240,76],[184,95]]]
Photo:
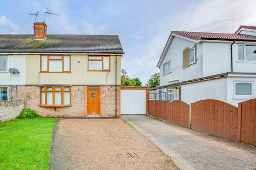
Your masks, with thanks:
[[[0,101],[0,122],[17,117],[24,108],[24,100]]]

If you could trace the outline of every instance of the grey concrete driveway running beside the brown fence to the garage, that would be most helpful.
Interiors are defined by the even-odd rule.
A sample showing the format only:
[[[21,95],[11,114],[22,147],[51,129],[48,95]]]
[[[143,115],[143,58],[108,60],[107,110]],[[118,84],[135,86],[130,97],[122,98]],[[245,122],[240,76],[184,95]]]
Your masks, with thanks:
[[[256,169],[256,147],[231,142],[147,115],[122,118],[180,169]]]

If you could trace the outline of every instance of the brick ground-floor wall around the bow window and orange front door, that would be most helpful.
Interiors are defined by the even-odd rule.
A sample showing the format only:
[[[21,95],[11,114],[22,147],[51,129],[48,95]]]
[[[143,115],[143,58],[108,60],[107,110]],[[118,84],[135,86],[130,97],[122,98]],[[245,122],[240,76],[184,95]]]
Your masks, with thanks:
[[[40,103],[38,86],[18,86],[18,99],[25,100],[25,107],[34,109],[45,117],[75,117],[87,114],[87,86],[71,87],[71,107],[48,108],[38,106]],[[101,86],[101,116],[115,116],[115,86]],[[120,115],[120,87],[117,87],[117,115]]]

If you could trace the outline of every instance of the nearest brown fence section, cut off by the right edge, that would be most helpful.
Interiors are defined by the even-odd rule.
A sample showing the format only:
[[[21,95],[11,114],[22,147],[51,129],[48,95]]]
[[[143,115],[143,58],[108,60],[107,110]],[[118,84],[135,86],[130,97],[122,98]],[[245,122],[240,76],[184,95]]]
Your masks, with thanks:
[[[256,99],[238,104],[237,141],[256,146]]]

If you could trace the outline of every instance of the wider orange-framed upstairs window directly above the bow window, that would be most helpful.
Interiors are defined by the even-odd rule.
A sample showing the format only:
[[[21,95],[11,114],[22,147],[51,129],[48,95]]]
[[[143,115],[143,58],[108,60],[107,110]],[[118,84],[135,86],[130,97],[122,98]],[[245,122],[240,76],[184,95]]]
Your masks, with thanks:
[[[45,69],[43,69],[42,58],[47,57],[47,63]],[[57,58],[59,57],[59,58]],[[69,57],[69,69],[65,70],[64,60],[66,57]],[[62,70],[61,71],[50,71],[49,62],[50,61],[62,61]],[[71,57],[70,55],[41,55],[40,56],[40,73],[71,73]]]

